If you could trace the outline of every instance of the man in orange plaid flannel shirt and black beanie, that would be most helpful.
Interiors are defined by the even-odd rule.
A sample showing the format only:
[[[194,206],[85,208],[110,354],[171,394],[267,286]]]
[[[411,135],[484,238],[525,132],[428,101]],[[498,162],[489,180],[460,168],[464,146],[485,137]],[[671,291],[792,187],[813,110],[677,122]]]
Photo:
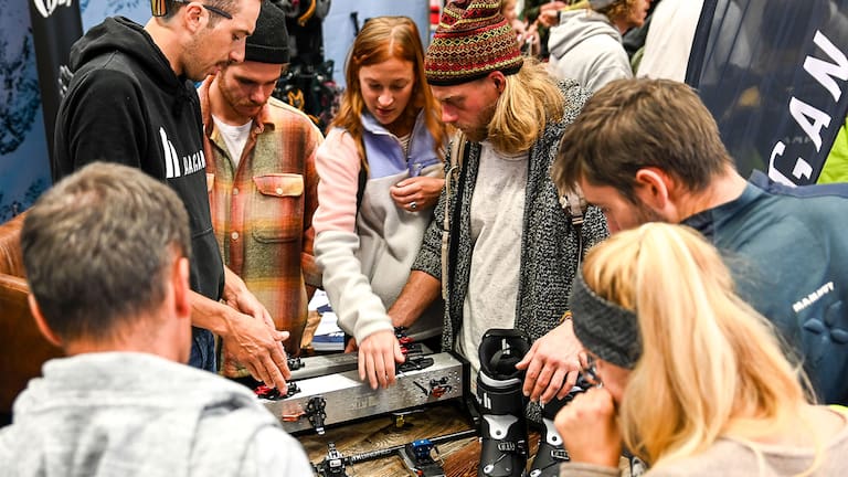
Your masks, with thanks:
[[[200,86],[212,224],[224,263],[265,305],[297,356],[320,272],[312,257],[318,206],[315,152],[322,141],[301,112],[271,97],[289,61],[285,15],[265,1],[244,63]],[[222,373],[246,375],[226,352]]]

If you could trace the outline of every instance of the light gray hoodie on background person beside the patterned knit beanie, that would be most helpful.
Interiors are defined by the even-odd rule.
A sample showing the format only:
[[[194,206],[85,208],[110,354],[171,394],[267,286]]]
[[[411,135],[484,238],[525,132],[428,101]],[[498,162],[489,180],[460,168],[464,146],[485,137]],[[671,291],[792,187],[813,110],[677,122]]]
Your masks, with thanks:
[[[589,91],[633,77],[622,35],[602,13],[582,9],[562,12],[560,24],[551,29],[548,47],[551,72]]]

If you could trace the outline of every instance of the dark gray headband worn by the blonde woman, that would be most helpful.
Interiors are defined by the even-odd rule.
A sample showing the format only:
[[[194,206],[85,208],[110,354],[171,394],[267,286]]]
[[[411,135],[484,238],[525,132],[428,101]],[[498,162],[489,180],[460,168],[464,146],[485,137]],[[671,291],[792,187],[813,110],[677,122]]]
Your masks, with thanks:
[[[634,311],[597,296],[580,272],[571,285],[569,306],[574,335],[589,351],[622,368],[636,365],[642,356],[642,336]]]

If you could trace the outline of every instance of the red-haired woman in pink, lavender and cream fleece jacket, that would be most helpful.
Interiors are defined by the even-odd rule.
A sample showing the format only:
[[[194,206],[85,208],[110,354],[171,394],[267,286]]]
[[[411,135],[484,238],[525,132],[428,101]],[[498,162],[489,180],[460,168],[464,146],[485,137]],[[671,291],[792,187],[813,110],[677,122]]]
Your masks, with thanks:
[[[339,325],[359,346],[360,375],[377,388],[394,381],[394,362],[404,359],[386,308],[406,283],[445,183],[446,137],[411,19],[370,19],[346,80],[316,157],[315,257]],[[441,304],[423,315],[410,336],[438,337]]]

